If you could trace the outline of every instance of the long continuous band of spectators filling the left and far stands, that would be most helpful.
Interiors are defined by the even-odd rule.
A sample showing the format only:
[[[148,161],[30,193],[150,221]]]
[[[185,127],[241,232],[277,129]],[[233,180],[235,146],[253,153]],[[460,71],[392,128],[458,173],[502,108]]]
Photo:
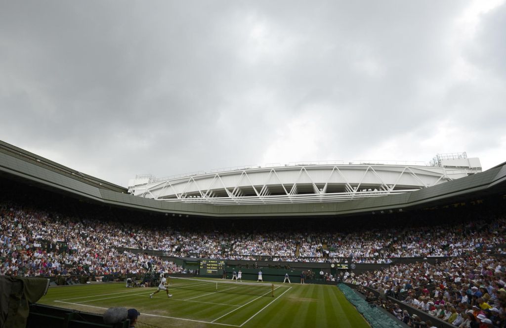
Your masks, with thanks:
[[[202,230],[74,217],[13,203],[0,203],[0,218],[0,273],[21,266],[28,275],[136,273],[153,261],[169,266],[119,248],[175,257],[388,264],[398,257],[470,256],[503,243],[506,232],[501,217],[365,231]]]

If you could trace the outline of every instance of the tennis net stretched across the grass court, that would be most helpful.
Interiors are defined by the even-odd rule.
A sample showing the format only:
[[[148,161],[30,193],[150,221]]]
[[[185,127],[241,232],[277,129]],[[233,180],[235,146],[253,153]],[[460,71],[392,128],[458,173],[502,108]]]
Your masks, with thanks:
[[[209,293],[273,296],[274,284],[204,280],[183,277],[168,277],[168,289],[187,289]]]

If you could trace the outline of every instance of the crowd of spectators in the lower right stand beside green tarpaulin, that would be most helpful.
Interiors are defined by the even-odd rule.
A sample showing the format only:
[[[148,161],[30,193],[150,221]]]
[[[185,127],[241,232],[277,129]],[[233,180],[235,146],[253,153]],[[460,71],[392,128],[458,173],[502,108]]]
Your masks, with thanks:
[[[344,281],[403,300],[454,326],[502,328],[506,326],[505,269],[506,258],[480,254],[436,265],[427,262],[391,265],[347,276]],[[420,321],[417,315],[399,307],[390,310],[406,323],[412,323],[413,319]]]

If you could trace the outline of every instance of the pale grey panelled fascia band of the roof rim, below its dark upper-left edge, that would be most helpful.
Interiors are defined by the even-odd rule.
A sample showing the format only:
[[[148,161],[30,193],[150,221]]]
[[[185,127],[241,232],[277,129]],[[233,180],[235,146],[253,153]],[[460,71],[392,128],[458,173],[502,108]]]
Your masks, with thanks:
[[[133,196],[125,192],[94,187],[80,177],[67,175],[44,166],[37,165],[33,159],[26,159],[11,153],[0,151],[0,171],[30,179],[48,186],[94,200],[122,207],[132,207],[165,213],[180,213],[202,216],[287,216],[287,215],[332,215],[373,211],[375,209],[395,209],[426,203],[435,199],[485,190],[499,184],[506,188],[506,163],[482,173],[453,180],[430,188],[413,192],[381,197],[361,198],[346,202],[284,203],[260,205],[214,206],[204,203],[165,202]],[[99,184],[99,180],[93,180]],[[501,189],[502,188],[502,189]]]

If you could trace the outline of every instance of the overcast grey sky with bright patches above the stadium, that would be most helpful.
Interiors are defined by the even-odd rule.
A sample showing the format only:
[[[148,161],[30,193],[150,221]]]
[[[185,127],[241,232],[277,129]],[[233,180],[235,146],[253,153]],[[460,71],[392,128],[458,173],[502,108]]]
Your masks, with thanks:
[[[309,160],[506,161],[500,1],[0,0],[0,140],[126,186]]]

